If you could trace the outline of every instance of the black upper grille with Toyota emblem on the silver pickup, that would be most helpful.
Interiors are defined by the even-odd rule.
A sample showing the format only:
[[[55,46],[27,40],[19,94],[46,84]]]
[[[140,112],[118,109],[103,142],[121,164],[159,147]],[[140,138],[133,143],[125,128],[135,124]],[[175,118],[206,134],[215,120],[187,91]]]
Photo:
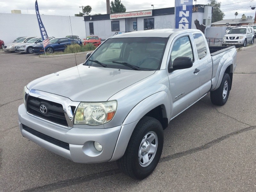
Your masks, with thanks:
[[[27,111],[32,115],[68,127],[63,106],[59,103],[28,96]]]

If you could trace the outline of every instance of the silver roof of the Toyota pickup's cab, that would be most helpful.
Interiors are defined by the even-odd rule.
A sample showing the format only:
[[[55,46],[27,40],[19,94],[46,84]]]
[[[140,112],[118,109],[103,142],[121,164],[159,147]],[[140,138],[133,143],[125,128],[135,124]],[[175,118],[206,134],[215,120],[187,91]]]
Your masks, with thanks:
[[[122,37],[170,37],[173,33],[178,31],[184,32],[196,32],[197,29],[150,29],[144,31],[134,31],[112,36],[111,38],[122,38]],[[183,33],[184,33],[183,32]]]

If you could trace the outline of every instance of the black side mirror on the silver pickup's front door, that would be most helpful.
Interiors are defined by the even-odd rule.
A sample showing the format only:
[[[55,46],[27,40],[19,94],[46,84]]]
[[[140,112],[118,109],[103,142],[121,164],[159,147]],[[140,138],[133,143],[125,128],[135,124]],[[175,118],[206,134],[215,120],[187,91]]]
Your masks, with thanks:
[[[170,67],[171,66],[170,64],[171,64],[171,60],[169,61],[169,65],[168,65],[169,73],[178,69],[191,68],[193,66],[193,60],[190,57],[177,57],[173,61],[172,68]]]

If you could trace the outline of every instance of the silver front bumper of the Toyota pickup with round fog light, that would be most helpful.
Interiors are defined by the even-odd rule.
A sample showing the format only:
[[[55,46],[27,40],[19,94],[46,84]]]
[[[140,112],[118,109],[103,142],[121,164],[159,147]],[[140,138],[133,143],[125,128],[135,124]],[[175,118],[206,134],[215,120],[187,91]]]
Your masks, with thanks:
[[[77,163],[90,164],[109,161],[112,158],[121,130],[121,125],[105,129],[74,127],[65,129],[29,115],[24,104],[20,105],[18,116],[22,136]],[[43,136],[38,136],[40,134]],[[45,139],[45,137],[48,137],[48,139]],[[50,137],[55,142],[49,141]],[[101,152],[94,148],[94,141],[102,145]],[[61,143],[64,143],[66,147],[63,147]]]

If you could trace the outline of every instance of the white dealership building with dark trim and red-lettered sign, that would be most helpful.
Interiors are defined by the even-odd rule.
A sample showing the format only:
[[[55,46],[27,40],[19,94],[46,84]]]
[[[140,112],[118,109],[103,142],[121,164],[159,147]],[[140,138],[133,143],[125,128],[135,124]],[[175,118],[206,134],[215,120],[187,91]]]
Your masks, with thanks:
[[[107,39],[114,34],[150,29],[175,28],[174,7],[124,12],[103,15],[84,16],[86,35],[96,35],[101,39]],[[211,26],[212,7],[196,4],[192,8],[192,25],[196,28],[194,21]]]

